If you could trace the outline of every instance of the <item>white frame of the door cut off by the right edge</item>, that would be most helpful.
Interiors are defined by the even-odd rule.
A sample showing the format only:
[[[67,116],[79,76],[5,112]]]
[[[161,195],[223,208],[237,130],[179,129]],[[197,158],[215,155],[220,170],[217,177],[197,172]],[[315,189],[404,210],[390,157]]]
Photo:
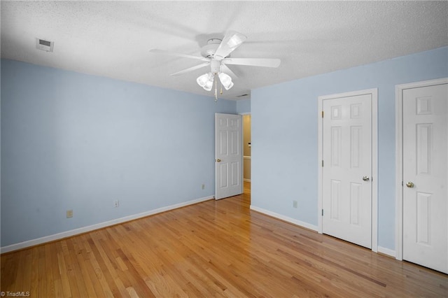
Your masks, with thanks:
[[[395,259],[403,260],[403,91],[448,84],[448,78],[395,85]]]

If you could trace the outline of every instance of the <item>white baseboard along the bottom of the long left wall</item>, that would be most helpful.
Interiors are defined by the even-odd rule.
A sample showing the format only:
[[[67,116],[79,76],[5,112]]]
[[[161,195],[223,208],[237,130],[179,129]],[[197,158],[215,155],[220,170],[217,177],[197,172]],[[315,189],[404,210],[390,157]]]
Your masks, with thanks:
[[[117,224],[120,224],[120,223],[123,223],[123,222],[128,222],[130,220],[137,220],[138,218],[144,218],[144,217],[149,216],[149,215],[154,215],[154,214],[157,214],[157,213],[162,213],[162,212],[165,212],[165,211],[174,210],[174,209],[185,207],[185,206],[188,206],[188,205],[197,204],[197,203],[200,203],[202,201],[208,201],[209,199],[214,199],[214,196],[203,197],[203,198],[200,198],[200,199],[193,199],[191,201],[186,201],[186,202],[179,203],[179,204],[174,204],[174,205],[161,207],[161,208],[153,209],[153,210],[150,210],[150,211],[146,211],[146,212],[142,212],[142,213],[138,213],[138,214],[134,214],[134,215],[125,216],[124,218],[117,218],[115,220],[109,220],[109,221],[106,221],[106,222],[100,222],[98,224],[90,225],[90,226],[87,226],[87,227],[80,227],[78,229],[71,229],[70,231],[61,232],[61,233],[57,233],[57,234],[52,234],[52,235],[44,236],[44,237],[41,237],[41,238],[38,238],[38,239],[31,239],[31,240],[28,240],[28,241],[11,244],[10,246],[3,246],[3,247],[0,248],[0,253],[8,253],[8,252],[13,251],[13,250],[19,250],[19,249],[27,248],[27,247],[30,247],[30,246],[37,246],[37,245],[42,244],[42,243],[47,243],[47,242],[50,242],[50,241],[64,239],[64,238],[67,238],[67,237],[70,237],[70,236],[74,236],[74,235],[77,235],[77,234],[90,232],[90,231],[93,231],[95,229],[102,229],[104,227],[109,227],[111,225],[117,225]]]

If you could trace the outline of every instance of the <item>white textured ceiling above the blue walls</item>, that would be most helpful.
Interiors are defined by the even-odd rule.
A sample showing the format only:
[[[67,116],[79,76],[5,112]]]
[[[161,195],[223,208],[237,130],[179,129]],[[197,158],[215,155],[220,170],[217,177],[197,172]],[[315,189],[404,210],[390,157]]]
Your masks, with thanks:
[[[232,57],[279,58],[277,69],[229,68],[228,99],[288,80],[448,45],[447,1],[1,1],[1,57],[213,96],[207,72],[170,73],[228,30],[247,40]],[[36,38],[54,52],[36,50]]]

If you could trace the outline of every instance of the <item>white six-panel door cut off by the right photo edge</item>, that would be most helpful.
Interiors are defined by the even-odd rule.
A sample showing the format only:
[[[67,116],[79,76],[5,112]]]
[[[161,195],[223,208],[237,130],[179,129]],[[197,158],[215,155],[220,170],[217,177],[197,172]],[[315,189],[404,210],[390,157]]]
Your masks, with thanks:
[[[448,84],[402,98],[403,259],[448,273]]]

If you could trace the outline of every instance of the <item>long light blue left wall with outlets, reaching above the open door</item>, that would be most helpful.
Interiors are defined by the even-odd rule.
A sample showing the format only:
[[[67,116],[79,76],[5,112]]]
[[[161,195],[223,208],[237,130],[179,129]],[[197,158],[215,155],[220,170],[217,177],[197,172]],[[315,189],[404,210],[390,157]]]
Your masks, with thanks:
[[[236,102],[2,59],[1,246],[213,195],[214,113]]]

